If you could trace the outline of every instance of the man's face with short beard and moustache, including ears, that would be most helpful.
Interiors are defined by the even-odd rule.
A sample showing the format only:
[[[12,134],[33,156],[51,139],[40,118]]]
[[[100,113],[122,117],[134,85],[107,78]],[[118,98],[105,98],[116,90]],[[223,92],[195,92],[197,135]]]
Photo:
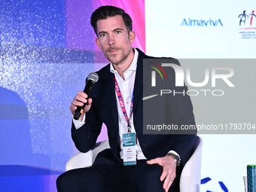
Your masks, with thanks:
[[[98,20],[97,30],[96,44],[105,57],[116,66],[126,62],[132,51],[135,33],[128,34],[123,17],[116,15],[105,20]]]

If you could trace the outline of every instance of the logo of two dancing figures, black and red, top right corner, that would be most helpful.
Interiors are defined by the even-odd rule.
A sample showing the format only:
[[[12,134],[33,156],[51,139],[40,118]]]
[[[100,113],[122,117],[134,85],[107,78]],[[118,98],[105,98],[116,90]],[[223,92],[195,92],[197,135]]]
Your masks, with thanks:
[[[254,10],[242,11],[238,15],[239,35],[241,38],[256,38],[256,13]]]

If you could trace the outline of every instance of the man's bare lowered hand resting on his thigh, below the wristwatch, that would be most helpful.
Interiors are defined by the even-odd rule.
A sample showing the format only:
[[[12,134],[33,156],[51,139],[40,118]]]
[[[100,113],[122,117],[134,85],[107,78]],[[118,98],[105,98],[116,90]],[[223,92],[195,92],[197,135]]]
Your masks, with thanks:
[[[157,163],[158,165],[163,166],[163,172],[160,176],[160,181],[164,180],[163,189],[165,192],[168,192],[169,187],[172,185],[172,182],[176,176],[175,160],[172,157],[166,156],[148,160],[147,163],[150,165]]]

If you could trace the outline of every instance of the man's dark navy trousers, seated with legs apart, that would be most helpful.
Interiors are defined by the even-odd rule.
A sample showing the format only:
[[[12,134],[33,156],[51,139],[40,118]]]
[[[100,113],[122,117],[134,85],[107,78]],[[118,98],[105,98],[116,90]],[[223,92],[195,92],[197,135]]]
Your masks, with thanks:
[[[56,181],[59,192],[163,192],[163,182],[160,181],[162,166],[148,165],[146,160],[137,160],[136,166],[117,166],[109,156],[110,151],[104,151],[96,158],[93,166],[73,169],[59,175]],[[104,162],[104,163],[102,163]],[[179,191],[180,169],[169,191]]]

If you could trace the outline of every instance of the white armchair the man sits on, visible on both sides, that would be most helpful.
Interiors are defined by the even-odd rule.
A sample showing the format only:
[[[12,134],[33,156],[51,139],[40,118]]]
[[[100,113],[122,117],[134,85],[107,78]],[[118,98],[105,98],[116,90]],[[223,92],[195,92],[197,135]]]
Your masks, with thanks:
[[[192,155],[189,160],[187,160],[181,172],[181,192],[200,192],[202,145],[202,139],[197,136],[191,151]],[[110,148],[108,140],[97,143],[96,146],[87,153],[75,154],[66,163],[66,170],[69,171],[70,169],[92,166],[97,154],[106,148]]]

